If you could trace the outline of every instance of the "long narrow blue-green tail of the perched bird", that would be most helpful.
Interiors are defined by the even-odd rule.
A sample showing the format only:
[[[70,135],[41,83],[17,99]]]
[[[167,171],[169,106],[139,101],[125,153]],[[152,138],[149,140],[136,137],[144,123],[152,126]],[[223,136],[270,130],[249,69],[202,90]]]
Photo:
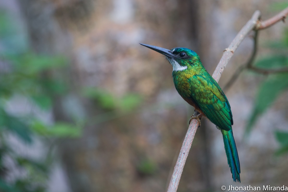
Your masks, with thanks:
[[[224,147],[232,178],[235,182],[236,180],[240,182],[240,163],[232,129],[229,131],[222,129],[221,132],[223,134]]]

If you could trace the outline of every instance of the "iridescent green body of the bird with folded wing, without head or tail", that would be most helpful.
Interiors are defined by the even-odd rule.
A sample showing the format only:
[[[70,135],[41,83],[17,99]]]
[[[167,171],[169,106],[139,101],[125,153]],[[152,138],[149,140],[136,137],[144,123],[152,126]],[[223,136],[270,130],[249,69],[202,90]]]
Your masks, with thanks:
[[[173,81],[185,101],[219,128],[227,131],[231,129],[233,118],[230,104],[218,83],[204,67],[173,71]]]

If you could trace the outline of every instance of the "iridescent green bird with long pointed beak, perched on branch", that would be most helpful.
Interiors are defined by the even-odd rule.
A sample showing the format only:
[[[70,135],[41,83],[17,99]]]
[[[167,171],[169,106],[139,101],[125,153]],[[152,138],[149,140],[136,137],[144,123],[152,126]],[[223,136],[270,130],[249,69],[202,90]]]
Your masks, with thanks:
[[[221,131],[233,181],[240,183],[240,162],[232,132],[231,107],[219,84],[202,65],[198,54],[184,47],[169,50],[139,44],[163,54],[173,66],[172,77],[177,92],[199,112],[191,116],[189,124],[192,119],[197,119],[200,126],[200,118],[206,117]]]

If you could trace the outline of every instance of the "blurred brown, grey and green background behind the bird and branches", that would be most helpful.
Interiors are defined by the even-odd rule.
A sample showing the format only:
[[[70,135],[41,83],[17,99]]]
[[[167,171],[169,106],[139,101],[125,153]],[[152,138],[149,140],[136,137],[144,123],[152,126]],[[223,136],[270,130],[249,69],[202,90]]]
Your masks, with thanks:
[[[0,191],[165,191],[194,113],[172,66],[139,43],[196,51],[212,74],[223,50],[269,0],[0,0]],[[255,62],[288,66],[288,26],[259,31]],[[253,51],[245,38],[230,81]],[[288,185],[288,74],[244,70],[224,92],[241,183],[222,135],[202,119],[178,191]]]

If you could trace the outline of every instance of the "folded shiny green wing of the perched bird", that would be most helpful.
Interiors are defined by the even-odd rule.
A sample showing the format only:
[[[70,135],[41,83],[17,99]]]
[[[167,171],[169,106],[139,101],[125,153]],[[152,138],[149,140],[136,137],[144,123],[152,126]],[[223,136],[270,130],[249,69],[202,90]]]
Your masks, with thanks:
[[[211,75],[194,75],[189,79],[191,97],[206,117],[221,129],[229,131],[233,125],[230,104]]]

